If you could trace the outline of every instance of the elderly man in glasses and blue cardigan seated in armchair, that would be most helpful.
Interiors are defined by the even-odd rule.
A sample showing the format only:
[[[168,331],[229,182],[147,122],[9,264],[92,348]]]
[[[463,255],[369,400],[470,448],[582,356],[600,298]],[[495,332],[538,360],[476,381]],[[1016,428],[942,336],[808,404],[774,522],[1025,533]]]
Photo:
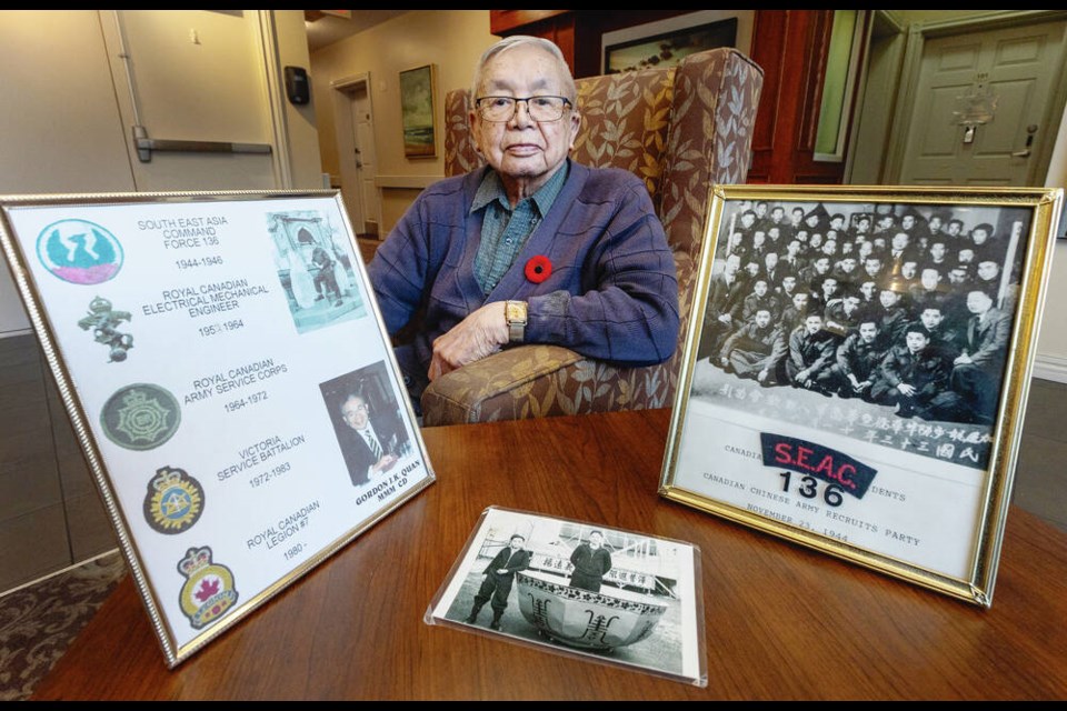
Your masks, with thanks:
[[[581,123],[559,48],[517,36],[482,54],[469,120],[488,166],[426,189],[368,267],[386,328],[425,309],[397,360],[428,381],[513,343],[618,364],[662,362],[678,283],[644,182],[568,159]]]

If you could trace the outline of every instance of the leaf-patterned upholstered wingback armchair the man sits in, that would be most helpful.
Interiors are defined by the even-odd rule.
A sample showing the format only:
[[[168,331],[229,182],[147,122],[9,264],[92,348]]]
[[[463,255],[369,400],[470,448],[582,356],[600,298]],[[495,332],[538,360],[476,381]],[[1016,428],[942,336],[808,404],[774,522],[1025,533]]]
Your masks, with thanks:
[[[744,183],[764,72],[734,49],[690,54],[677,67],[578,80],[582,126],[571,153],[639,176],[678,271],[681,328],[658,365],[615,367],[558,346],[527,344],[438,378],[422,395],[423,425],[670,407],[678,384],[694,279],[712,183]],[[481,164],[467,120],[469,91],[445,98],[445,173]]]

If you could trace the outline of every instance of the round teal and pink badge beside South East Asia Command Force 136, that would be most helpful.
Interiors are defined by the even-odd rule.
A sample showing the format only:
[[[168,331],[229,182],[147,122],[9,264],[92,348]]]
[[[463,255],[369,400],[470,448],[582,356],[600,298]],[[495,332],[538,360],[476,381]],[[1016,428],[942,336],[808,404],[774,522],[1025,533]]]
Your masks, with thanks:
[[[119,240],[86,220],[60,220],[41,230],[37,257],[48,271],[72,284],[99,284],[122,268]]]

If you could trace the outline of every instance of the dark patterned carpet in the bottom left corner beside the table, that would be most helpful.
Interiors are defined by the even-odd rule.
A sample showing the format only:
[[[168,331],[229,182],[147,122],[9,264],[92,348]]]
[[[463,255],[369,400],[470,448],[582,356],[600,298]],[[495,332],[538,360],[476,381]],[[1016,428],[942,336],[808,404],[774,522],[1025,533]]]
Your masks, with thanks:
[[[0,701],[23,701],[126,575],[118,551],[0,598]]]

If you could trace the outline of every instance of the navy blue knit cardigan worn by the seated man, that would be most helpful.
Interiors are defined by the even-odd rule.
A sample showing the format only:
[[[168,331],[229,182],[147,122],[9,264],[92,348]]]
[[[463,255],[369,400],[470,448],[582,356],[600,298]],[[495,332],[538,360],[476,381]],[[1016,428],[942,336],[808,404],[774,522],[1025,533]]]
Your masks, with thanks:
[[[482,212],[470,213],[488,168],[426,190],[368,266],[386,329],[396,333],[425,306],[416,337],[429,367],[433,339],[491,301],[527,301],[527,343],[552,343],[626,365],[659,363],[678,340],[678,280],[645,184],[630,172],[571,162],[570,174],[511,269],[483,294],[473,264]],[[535,256],[551,276],[525,274]]]

